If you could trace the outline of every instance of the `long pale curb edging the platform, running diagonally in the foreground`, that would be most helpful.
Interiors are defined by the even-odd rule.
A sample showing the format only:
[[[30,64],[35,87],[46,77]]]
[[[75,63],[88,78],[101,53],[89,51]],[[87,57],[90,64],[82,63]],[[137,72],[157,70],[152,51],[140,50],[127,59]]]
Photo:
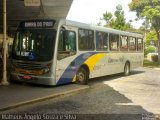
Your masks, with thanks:
[[[90,87],[89,86],[85,86],[83,88],[78,88],[78,89],[69,90],[69,91],[66,91],[66,92],[60,92],[60,93],[56,93],[56,94],[51,94],[51,95],[48,95],[48,96],[45,96],[45,97],[40,97],[40,98],[36,98],[36,99],[20,102],[20,103],[17,103],[17,104],[8,105],[6,107],[0,108],[0,112],[4,112],[6,110],[10,110],[10,109],[13,109],[13,108],[21,107],[21,106],[24,106],[24,105],[29,105],[29,104],[36,103],[36,102],[42,102],[42,101],[49,100],[49,99],[52,99],[52,98],[64,96],[66,94],[68,94],[68,95],[76,94],[76,93],[79,93],[79,92],[81,92],[83,90],[86,90],[88,88],[90,88]]]

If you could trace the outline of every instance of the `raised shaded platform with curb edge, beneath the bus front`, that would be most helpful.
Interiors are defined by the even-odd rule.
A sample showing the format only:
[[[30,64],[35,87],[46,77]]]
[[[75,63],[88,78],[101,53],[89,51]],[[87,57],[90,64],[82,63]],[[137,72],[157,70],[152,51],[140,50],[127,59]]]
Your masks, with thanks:
[[[0,86],[0,111],[64,94],[79,92],[86,88],[88,88],[88,86],[78,84],[48,87],[23,83],[11,83],[9,86]]]

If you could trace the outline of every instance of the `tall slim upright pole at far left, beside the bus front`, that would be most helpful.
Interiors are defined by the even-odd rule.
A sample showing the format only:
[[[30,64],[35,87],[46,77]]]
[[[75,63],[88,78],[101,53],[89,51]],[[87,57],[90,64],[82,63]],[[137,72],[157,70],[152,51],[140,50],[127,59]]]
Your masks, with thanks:
[[[7,44],[6,44],[6,31],[7,31],[7,24],[6,24],[6,0],[3,0],[3,79],[1,85],[8,85],[7,81]]]

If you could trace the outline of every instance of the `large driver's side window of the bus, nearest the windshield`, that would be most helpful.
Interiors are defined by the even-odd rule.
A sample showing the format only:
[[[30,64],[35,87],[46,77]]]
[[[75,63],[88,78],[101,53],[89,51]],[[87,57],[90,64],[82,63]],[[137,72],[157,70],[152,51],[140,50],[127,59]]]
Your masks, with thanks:
[[[58,59],[63,59],[76,54],[76,33],[61,30],[58,43]]]

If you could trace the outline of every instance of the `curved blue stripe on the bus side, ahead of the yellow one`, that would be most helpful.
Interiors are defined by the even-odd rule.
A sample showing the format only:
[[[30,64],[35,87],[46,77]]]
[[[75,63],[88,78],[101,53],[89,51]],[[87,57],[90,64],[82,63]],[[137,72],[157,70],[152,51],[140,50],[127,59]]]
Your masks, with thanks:
[[[95,52],[89,52],[79,55],[77,58],[75,58],[72,62],[75,63],[75,66],[72,66],[71,64],[66,68],[62,76],[57,82],[57,85],[60,84],[66,84],[72,82],[74,76],[76,75],[79,67],[91,56],[96,54]],[[72,63],[71,62],[71,63]]]

